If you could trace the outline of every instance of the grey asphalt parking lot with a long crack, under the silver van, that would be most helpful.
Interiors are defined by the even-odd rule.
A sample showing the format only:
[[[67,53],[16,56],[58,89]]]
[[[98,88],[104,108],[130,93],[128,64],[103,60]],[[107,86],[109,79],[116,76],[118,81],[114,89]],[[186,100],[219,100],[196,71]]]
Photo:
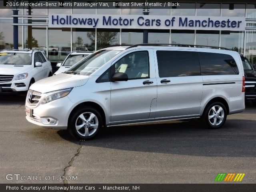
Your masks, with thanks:
[[[256,106],[228,116],[219,130],[197,122],[116,126],[78,142],[67,131],[25,119],[24,97],[0,96],[0,183],[214,183],[218,173],[256,182]],[[77,180],[6,180],[78,176]]]

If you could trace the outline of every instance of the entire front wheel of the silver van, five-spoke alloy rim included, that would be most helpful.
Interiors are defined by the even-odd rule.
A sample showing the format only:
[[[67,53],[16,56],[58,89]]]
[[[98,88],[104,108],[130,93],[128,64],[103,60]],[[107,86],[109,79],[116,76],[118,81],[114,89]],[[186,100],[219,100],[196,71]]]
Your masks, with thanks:
[[[70,119],[68,131],[80,140],[93,138],[102,127],[102,117],[100,113],[89,106],[78,108]]]

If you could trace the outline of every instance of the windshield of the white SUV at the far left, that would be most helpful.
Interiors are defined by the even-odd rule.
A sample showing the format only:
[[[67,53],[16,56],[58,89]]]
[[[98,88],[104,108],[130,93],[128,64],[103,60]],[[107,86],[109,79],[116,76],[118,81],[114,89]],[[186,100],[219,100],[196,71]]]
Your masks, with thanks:
[[[31,54],[28,54],[28,53],[0,53],[0,64],[31,65]]]

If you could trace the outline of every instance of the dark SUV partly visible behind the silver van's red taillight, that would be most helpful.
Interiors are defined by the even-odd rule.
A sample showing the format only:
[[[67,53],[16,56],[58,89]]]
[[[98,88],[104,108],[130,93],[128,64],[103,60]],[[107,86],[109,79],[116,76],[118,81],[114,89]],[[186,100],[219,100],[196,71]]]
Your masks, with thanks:
[[[249,62],[249,60],[240,54],[245,76],[245,99],[251,100],[256,104],[256,66]]]

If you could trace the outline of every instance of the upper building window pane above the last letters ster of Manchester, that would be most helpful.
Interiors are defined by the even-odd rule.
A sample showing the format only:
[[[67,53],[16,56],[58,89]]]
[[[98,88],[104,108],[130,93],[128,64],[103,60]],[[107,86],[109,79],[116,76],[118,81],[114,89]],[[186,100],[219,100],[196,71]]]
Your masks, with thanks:
[[[222,16],[228,17],[244,17],[245,16],[245,4],[222,4],[221,5]]]

